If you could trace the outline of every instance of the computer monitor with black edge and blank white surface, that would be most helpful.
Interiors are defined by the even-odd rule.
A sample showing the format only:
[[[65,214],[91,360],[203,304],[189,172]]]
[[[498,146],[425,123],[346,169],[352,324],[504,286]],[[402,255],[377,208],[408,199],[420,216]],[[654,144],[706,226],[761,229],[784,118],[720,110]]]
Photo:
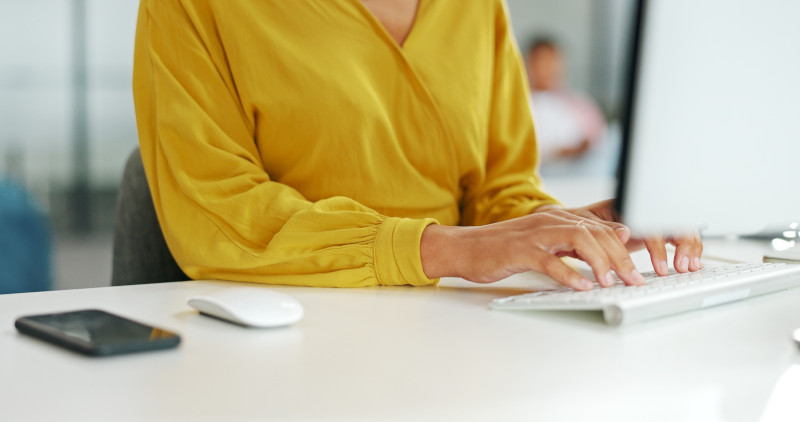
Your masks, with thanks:
[[[636,232],[800,221],[800,1],[639,0],[617,208]]]

